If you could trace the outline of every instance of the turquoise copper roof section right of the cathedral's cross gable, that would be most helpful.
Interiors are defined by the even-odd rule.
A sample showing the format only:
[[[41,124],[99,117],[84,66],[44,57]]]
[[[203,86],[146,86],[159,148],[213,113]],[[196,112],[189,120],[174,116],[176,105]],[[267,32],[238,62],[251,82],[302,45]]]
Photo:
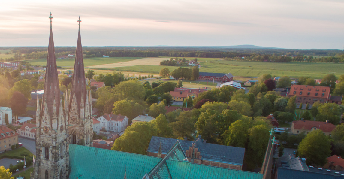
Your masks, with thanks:
[[[166,164],[173,179],[262,179],[263,174],[213,167],[209,165],[193,164],[166,160]]]

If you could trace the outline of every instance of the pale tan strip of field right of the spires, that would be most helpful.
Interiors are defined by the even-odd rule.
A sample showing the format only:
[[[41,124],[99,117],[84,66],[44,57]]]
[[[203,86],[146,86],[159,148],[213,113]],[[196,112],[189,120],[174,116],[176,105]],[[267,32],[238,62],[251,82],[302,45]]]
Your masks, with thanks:
[[[123,67],[123,66],[136,66],[138,64],[140,65],[160,65],[160,62],[163,60],[169,60],[165,58],[159,58],[159,57],[148,57],[148,58],[141,58],[137,60],[132,61],[125,61],[125,62],[116,62],[111,64],[102,64],[102,65],[95,65],[95,66],[88,66],[90,68],[114,68],[114,67]]]

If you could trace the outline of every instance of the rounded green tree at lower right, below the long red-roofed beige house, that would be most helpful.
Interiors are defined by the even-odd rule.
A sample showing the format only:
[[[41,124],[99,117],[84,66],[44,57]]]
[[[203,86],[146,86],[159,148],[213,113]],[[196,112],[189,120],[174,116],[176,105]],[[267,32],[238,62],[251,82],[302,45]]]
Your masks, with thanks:
[[[313,130],[301,141],[298,154],[308,165],[323,166],[331,155],[331,142],[322,130]]]

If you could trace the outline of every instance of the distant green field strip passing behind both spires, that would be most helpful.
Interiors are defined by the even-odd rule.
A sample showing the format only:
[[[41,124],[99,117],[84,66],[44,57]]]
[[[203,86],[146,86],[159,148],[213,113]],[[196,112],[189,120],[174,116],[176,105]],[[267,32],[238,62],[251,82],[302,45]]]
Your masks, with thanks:
[[[89,59],[84,59],[84,66],[93,66],[93,65],[103,65],[109,63],[119,63],[127,62],[131,60],[142,59],[142,57],[94,57]],[[28,60],[31,65],[46,65],[46,59],[37,59],[37,60]],[[63,67],[74,67],[74,59],[56,59],[57,66]]]

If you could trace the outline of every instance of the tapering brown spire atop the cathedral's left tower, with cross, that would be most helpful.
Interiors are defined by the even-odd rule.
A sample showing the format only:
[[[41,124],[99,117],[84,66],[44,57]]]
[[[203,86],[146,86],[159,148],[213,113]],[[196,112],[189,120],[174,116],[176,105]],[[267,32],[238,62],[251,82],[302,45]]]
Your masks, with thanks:
[[[42,99],[41,115],[43,114],[44,106],[46,104],[48,108],[49,116],[52,117],[54,99],[60,99],[60,86],[58,85],[56,56],[55,56],[53,28],[52,28],[53,17],[51,16],[51,13],[50,13],[49,18],[50,18],[50,35],[49,35],[48,55],[46,58],[44,94],[43,94],[43,99]],[[56,101],[56,106],[60,106],[59,100]],[[56,113],[58,114],[58,109]]]

